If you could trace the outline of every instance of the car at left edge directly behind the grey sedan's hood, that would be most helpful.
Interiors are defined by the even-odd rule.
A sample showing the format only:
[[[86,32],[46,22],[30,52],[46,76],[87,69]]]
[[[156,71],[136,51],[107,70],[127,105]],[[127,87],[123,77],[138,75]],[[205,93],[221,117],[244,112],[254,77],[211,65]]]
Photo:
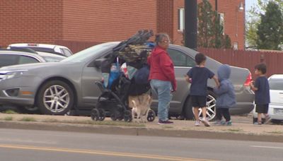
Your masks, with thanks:
[[[66,56],[50,54],[47,52],[35,52],[32,49],[0,49],[0,67],[16,64],[32,64],[39,62],[62,61]]]

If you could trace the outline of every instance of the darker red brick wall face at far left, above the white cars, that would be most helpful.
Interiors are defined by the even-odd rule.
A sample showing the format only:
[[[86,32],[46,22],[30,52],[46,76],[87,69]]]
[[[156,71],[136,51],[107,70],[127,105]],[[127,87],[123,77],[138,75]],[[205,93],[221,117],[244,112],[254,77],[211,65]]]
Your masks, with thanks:
[[[0,46],[17,42],[54,43],[62,37],[62,0],[0,2]]]

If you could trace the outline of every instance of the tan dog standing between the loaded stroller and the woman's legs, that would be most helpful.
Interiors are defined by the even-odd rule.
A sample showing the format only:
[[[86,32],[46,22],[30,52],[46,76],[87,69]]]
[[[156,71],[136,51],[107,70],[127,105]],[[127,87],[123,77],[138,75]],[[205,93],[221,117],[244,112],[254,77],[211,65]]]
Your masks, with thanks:
[[[132,118],[134,119],[134,115],[137,114],[137,120],[139,122],[147,122],[147,116],[151,109],[151,101],[152,99],[149,94],[129,96],[129,107],[132,107]]]

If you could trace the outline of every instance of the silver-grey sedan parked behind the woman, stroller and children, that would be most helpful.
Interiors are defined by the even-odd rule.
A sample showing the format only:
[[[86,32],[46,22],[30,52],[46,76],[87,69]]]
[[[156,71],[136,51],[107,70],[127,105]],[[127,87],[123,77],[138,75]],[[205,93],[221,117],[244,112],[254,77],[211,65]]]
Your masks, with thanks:
[[[66,114],[70,109],[87,110],[96,105],[100,90],[95,84],[102,74],[98,61],[109,56],[112,48],[119,42],[107,42],[84,49],[69,56],[60,63],[8,66],[0,68],[0,104],[37,106],[43,114]],[[198,52],[171,44],[168,53],[175,64],[175,75],[178,81],[177,92],[171,101],[171,116],[192,119],[192,105],[189,88],[183,76],[195,66],[195,54]],[[221,65],[214,59],[207,59],[207,67],[216,73]],[[231,81],[235,85],[237,106],[231,109],[232,114],[245,114],[253,110],[254,93],[250,90],[250,71],[246,68],[231,67]],[[207,90],[207,116],[215,117],[216,95],[214,83],[209,81]],[[157,110],[158,101],[154,96],[152,107]]]

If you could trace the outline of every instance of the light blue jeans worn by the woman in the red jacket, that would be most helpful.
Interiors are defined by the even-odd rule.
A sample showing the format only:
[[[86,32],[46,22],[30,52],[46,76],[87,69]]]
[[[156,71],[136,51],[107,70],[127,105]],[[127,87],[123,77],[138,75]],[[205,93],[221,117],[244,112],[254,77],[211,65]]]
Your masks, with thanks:
[[[168,120],[168,110],[172,99],[172,84],[169,81],[151,80],[151,89],[158,96],[157,116],[162,121]]]

